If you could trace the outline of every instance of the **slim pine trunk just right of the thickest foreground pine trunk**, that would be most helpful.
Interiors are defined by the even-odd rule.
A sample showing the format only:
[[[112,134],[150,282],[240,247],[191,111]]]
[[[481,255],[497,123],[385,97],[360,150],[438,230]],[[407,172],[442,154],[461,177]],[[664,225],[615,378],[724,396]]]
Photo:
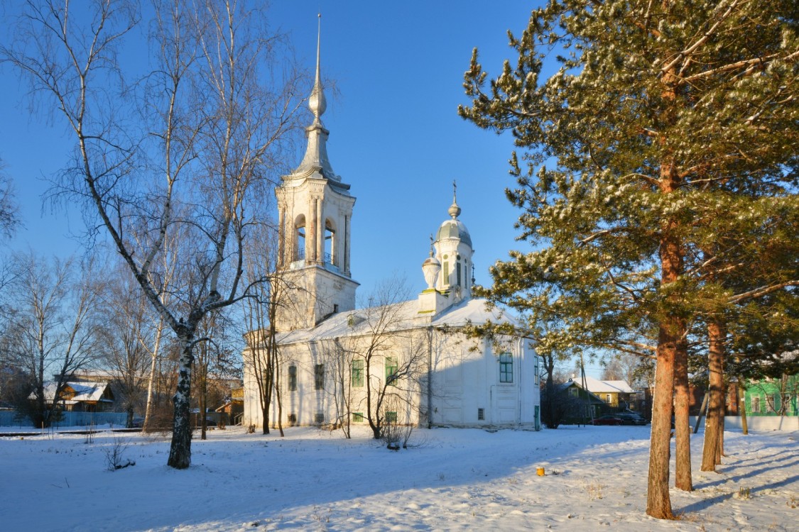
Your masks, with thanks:
[[[691,440],[688,417],[688,346],[685,337],[685,323],[681,324],[677,352],[674,359],[674,436],[677,440],[676,463],[674,467],[674,486],[684,491],[694,491],[691,479]]]

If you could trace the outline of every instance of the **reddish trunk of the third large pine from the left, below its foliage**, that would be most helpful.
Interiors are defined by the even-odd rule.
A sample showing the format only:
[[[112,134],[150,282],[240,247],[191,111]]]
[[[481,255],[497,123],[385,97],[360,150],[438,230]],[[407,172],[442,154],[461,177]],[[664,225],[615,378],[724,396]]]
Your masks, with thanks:
[[[710,405],[705,425],[705,446],[702,449],[702,471],[716,471],[721,417],[724,412],[724,376],[721,374],[721,361],[724,359],[724,334],[718,321],[707,325],[709,338],[708,369],[710,372]]]

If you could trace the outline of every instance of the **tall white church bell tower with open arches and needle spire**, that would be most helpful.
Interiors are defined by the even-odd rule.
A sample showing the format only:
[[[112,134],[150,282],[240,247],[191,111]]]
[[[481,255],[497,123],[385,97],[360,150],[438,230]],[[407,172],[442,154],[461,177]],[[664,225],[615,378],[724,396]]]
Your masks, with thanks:
[[[350,223],[356,199],[333,172],[321,116],[327,107],[320,76],[320,35],[316,37],[316,80],[305,128],[308,147],[296,170],[276,187],[280,243],[272,290],[281,295],[276,314],[280,332],[305,329],[333,313],[355,309],[359,286],[350,272]],[[279,284],[275,284],[279,283]]]

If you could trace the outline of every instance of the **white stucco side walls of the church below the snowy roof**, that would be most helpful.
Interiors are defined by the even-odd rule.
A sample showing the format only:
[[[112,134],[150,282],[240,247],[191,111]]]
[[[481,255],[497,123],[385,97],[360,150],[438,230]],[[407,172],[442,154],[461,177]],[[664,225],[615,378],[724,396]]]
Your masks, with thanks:
[[[385,357],[396,357],[403,364],[407,357],[407,342],[415,342],[423,349],[419,357],[418,379],[402,380],[392,393],[411,398],[413,408],[403,408],[399,413],[401,423],[427,424],[428,404],[431,409],[431,424],[451,427],[535,427],[536,407],[539,406],[539,386],[536,383],[537,357],[529,342],[521,339],[506,339],[503,345],[492,345],[482,339],[467,338],[462,333],[434,331],[432,341],[427,342],[427,329],[405,331],[396,336],[397,345],[380,353],[372,363],[372,383],[382,386],[385,376]],[[343,339],[340,341],[344,341]],[[364,342],[359,341],[363,349]],[[324,415],[324,423],[330,424],[340,416],[340,400],[336,404],[337,390],[329,360],[332,353],[332,338],[292,345],[284,345],[281,351],[280,386],[283,399],[283,424],[288,426],[288,416],[294,414],[297,424],[315,424],[315,415]],[[359,352],[355,343],[348,349]],[[476,348],[476,349],[475,349]],[[496,351],[496,353],[495,353]],[[363,353],[364,351],[360,351]],[[511,353],[513,360],[513,382],[499,382],[498,353]],[[427,397],[427,361],[430,361],[431,396]],[[245,357],[246,359],[246,357]],[[325,386],[317,390],[314,386],[314,365],[325,365]],[[297,386],[288,390],[288,367],[296,365]],[[347,373],[344,384],[348,386]],[[373,387],[374,387],[373,386]],[[365,388],[350,388],[351,412],[366,412]],[[257,388],[252,380],[252,368],[244,370],[244,424],[261,426],[260,404]],[[339,395],[340,396],[340,395]],[[483,409],[484,419],[478,419],[478,409]],[[421,413],[421,416],[419,416]],[[276,421],[277,406],[272,404],[272,423]]]

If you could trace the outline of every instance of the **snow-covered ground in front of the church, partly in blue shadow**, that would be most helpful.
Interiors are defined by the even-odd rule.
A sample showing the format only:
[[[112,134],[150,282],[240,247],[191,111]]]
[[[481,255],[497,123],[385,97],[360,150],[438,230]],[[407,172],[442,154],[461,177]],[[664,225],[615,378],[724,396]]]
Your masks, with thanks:
[[[694,437],[695,491],[672,489],[666,522],[644,512],[649,430],[439,428],[394,452],[229,428],[194,439],[185,471],[162,436],[0,437],[0,530],[799,530],[799,433],[727,432],[718,473]],[[136,465],[107,471],[123,440]]]

